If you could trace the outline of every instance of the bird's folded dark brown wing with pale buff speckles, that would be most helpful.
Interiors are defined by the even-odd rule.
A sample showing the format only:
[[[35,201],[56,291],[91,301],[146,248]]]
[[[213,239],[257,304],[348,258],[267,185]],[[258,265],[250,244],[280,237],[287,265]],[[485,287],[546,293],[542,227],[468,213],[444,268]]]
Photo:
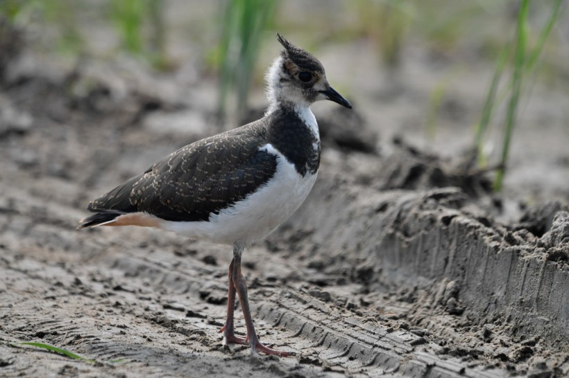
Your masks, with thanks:
[[[210,214],[244,199],[275,174],[277,156],[259,150],[264,134],[264,128],[248,125],[182,147],[95,199],[88,209],[207,221]]]

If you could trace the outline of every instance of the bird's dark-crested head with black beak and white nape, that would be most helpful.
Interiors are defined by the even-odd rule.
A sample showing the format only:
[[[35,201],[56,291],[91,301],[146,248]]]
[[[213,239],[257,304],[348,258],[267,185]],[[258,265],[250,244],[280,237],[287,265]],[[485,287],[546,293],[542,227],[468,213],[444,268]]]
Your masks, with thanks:
[[[309,107],[313,102],[330,100],[352,108],[348,100],[330,87],[324,67],[314,55],[294,46],[280,34],[277,39],[284,48],[266,76],[271,105],[289,102]]]

